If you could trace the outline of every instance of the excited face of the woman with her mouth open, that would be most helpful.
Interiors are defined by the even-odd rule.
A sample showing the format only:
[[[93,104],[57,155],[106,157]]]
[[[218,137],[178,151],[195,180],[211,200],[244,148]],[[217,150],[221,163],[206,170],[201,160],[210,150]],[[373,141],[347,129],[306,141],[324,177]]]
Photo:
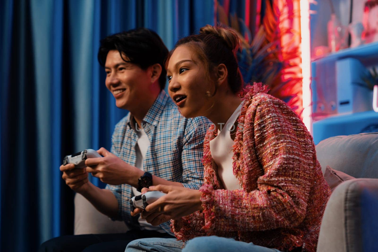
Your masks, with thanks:
[[[212,107],[215,85],[191,47],[178,46],[167,67],[169,95],[184,117],[206,116]]]

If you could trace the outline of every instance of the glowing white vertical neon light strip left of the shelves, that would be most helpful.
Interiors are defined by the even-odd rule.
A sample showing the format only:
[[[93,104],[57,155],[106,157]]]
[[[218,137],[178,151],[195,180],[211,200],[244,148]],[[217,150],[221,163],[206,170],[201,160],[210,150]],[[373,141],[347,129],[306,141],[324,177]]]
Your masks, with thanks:
[[[301,0],[301,51],[302,51],[302,104],[303,122],[312,134],[311,117],[311,55],[310,55],[310,4]]]

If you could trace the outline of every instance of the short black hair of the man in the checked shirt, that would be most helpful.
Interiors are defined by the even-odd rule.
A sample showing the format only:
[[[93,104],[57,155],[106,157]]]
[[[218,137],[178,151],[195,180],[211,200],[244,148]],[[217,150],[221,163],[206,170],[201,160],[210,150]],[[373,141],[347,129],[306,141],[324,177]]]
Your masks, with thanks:
[[[138,65],[143,70],[156,63],[161,65],[159,77],[160,88],[163,90],[167,80],[167,71],[164,68],[164,60],[168,55],[168,49],[156,32],[147,28],[136,28],[119,32],[101,40],[98,50],[98,62],[105,67],[106,57],[110,50],[117,50],[124,61]],[[125,60],[125,54],[130,60]]]

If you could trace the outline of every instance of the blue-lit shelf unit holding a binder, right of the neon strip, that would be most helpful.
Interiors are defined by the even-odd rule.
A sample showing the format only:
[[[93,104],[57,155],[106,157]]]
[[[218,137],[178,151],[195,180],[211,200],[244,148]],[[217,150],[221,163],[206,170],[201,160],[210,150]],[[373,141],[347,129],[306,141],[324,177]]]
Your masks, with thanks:
[[[372,90],[363,80],[367,68],[377,65],[378,42],[344,49],[311,63],[315,144],[330,136],[378,131]]]

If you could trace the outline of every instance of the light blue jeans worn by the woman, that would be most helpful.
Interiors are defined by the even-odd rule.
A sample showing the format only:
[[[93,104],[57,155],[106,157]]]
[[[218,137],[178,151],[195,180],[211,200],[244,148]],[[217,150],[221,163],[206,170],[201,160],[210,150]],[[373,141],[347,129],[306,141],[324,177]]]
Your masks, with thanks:
[[[277,249],[257,246],[253,243],[245,243],[243,241],[235,241],[232,238],[224,238],[217,236],[196,237],[187,243],[177,241],[176,239],[162,238],[143,238],[130,242],[125,252],[219,252],[219,251],[246,251],[246,252],[280,252]]]

